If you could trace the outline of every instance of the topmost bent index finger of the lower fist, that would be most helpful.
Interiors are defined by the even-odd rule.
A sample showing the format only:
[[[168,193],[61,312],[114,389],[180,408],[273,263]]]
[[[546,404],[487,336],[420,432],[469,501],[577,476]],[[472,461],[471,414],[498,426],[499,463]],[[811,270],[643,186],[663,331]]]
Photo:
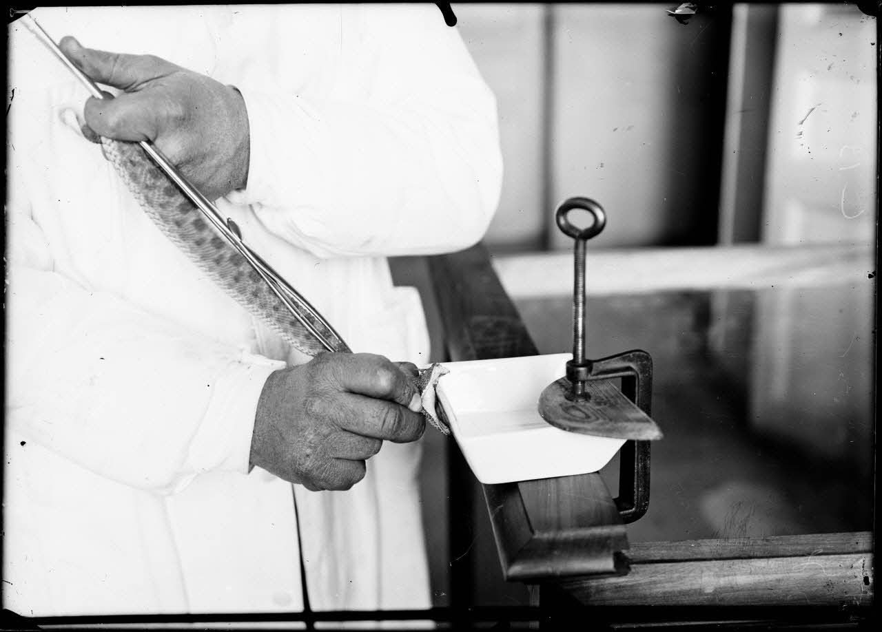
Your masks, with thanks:
[[[333,364],[333,375],[343,390],[396,402],[415,413],[422,409],[414,381],[382,355],[328,353],[320,357]]]

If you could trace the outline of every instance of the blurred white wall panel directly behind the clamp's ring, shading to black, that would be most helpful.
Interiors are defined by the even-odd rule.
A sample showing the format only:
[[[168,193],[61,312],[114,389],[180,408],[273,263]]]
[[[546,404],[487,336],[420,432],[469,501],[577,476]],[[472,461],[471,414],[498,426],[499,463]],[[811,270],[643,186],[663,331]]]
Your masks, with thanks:
[[[593,246],[663,243],[697,213],[713,29],[660,4],[556,7],[553,197],[607,211]],[[688,230],[688,228],[686,228]],[[572,241],[554,229],[557,246]]]

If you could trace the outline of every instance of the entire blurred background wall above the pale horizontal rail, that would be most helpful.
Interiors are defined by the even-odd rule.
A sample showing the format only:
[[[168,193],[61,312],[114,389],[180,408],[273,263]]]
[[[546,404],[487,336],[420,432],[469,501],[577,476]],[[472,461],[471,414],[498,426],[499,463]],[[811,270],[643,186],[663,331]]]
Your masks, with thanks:
[[[505,181],[491,249],[568,247],[553,213],[577,195],[609,214],[600,248],[716,243],[731,234],[733,189],[740,216],[769,219],[735,241],[871,233],[872,213],[818,209],[854,215],[875,196],[875,19],[854,4],[721,3],[680,24],[674,5],[452,4],[497,95]],[[723,163],[732,154],[741,180]],[[860,164],[839,171],[846,162]]]

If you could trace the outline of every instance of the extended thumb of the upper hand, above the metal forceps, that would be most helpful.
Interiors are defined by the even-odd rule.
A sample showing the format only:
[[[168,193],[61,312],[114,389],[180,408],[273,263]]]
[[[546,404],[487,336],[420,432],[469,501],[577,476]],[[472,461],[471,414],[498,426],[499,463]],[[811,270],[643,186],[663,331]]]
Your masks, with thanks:
[[[70,35],[62,38],[58,45],[64,55],[94,81],[120,90],[132,90],[176,69],[175,64],[152,55],[125,55],[84,48]]]

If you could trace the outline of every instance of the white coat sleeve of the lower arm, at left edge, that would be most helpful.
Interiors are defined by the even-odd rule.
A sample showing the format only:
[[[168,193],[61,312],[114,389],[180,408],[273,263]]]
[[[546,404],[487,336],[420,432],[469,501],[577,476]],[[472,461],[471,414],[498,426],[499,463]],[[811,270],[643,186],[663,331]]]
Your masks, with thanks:
[[[40,227],[7,205],[7,423],[125,485],[170,494],[248,472],[260,392],[280,363],[247,357],[53,271]]]

